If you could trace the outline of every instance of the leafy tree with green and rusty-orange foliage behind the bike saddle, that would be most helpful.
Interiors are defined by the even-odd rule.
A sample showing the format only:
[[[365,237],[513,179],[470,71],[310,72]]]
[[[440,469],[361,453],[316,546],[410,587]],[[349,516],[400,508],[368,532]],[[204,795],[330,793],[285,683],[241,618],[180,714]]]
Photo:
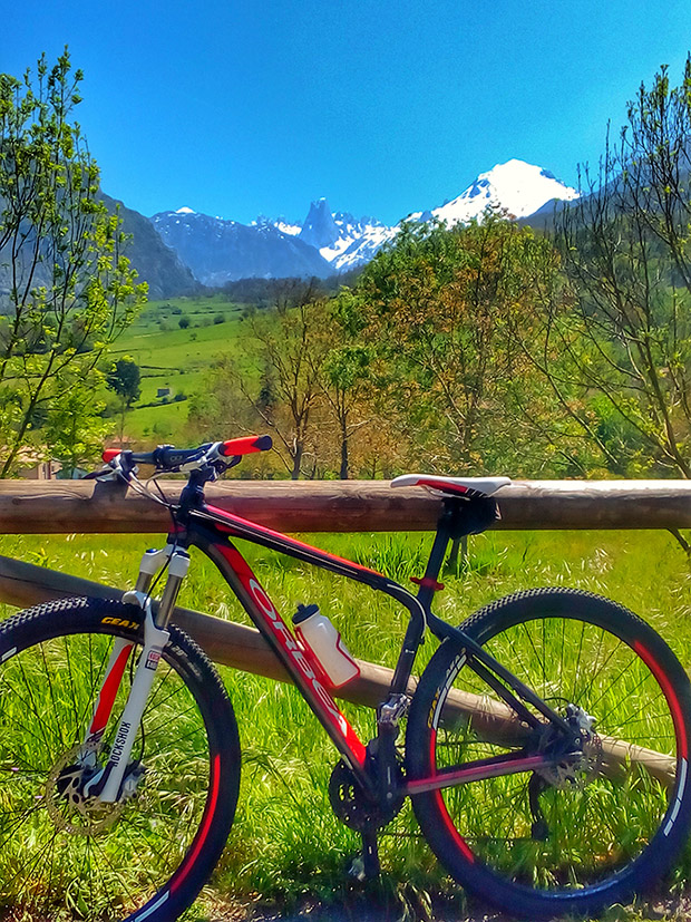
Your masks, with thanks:
[[[535,310],[536,264],[555,270],[552,244],[499,215],[409,225],[341,294],[346,327],[371,349],[373,416],[396,420],[408,463],[520,470],[536,450],[522,438],[535,373],[515,337]]]

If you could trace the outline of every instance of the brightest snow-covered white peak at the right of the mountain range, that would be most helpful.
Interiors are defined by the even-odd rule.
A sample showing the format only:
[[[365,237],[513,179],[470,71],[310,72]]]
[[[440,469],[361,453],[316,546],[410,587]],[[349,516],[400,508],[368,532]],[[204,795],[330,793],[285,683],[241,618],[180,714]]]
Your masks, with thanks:
[[[514,159],[480,173],[465,192],[432,208],[431,214],[449,225],[480,219],[488,208],[506,212],[512,217],[527,217],[554,198],[572,201],[577,197],[575,188],[562,183],[549,171]],[[425,216],[424,212],[410,215],[412,220],[425,220]]]

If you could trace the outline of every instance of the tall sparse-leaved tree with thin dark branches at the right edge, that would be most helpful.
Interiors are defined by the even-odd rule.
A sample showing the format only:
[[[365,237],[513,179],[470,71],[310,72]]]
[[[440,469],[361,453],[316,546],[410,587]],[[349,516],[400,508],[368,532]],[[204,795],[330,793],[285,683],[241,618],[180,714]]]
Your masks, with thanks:
[[[624,476],[691,477],[691,59],[629,104],[581,198],[556,221],[571,284],[548,302],[544,367],[562,406]]]

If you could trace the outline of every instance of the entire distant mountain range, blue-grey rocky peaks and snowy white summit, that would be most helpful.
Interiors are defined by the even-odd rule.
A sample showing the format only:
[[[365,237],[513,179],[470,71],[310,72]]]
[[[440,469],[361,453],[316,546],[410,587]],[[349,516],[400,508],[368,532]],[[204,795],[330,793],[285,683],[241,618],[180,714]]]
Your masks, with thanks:
[[[481,220],[493,208],[522,223],[551,211],[549,203],[571,201],[577,192],[546,169],[512,159],[474,179],[458,196],[413,212],[405,221],[436,219],[449,226]],[[312,202],[302,223],[259,217],[251,224],[198,214],[189,207],[159,212],[144,231],[142,215],[121,210],[134,234],[133,265],[149,282],[152,297],[169,298],[198,284],[220,287],[243,278],[317,276],[325,279],[369,262],[396,239],[402,222],[387,225],[374,217],[332,212],[325,198]],[[135,219],[136,215],[136,219]],[[148,223],[147,222],[147,223]],[[136,227],[133,226],[136,223]],[[155,252],[150,232],[168,251]]]

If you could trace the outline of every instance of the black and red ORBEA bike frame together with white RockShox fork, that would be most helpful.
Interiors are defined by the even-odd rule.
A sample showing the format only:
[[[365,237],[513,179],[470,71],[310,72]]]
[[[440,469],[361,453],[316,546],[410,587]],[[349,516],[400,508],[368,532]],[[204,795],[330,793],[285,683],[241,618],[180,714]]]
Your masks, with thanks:
[[[358,783],[372,800],[381,804],[391,804],[400,795],[440,789],[497,775],[535,771],[541,767],[554,766],[564,758],[573,756],[577,759],[580,757],[577,731],[574,731],[570,724],[520,682],[510,670],[497,662],[473,638],[432,614],[431,602],[434,595],[444,588],[437,578],[449,541],[459,536],[459,534],[464,534],[461,525],[463,505],[456,497],[446,497],[444,504],[445,511],[437,526],[437,534],[425,575],[415,580],[419,586],[417,595],[408,592],[399,583],[382,573],[291,538],[233,513],[207,505],[203,495],[203,482],[195,482],[194,477],[191,477],[187,487],[183,491],[181,505],[172,507],[175,524],[168,535],[167,551],[171,555],[169,560],[175,561],[177,566],[181,556],[178,552],[182,552],[182,556],[187,559],[186,550],[189,546],[196,546],[217,566],[252,622],[264,637],[279,661],[284,666]],[[379,745],[374,768],[372,767],[372,759],[368,758],[368,746],[358,737],[334,702],[330,691],[331,685],[325,673],[315,659],[309,656],[309,652],[296,641],[293,632],[280,615],[251,566],[233,544],[232,538],[247,540],[251,543],[363,583],[372,590],[385,592],[408,610],[410,618],[391,686],[378,709],[376,739]],[[165,552],[147,552],[147,554],[154,557],[167,559]],[[185,560],[185,564],[187,562],[188,560]],[[184,570],[186,572],[186,565]],[[165,609],[166,614],[163,618],[157,617],[155,622],[147,593],[126,593],[127,601],[138,602],[144,610],[145,640],[148,644],[145,649],[149,650],[150,646],[152,652],[146,658],[147,662],[140,662],[137,668],[136,687],[143,689],[143,691],[138,695],[133,693],[128,699],[127,712],[120,719],[116,741],[111,748],[106,768],[88,785],[89,793],[100,796],[104,800],[114,800],[119,796],[118,792],[123,783],[125,763],[138,726],[139,718],[137,715],[140,715],[144,707],[146,689],[150,687],[160,650],[165,646],[160,643],[160,638],[167,637],[165,634],[166,622],[172,612],[181,580],[182,578],[174,575],[171,570],[166,591],[164,592],[167,604],[162,601],[162,608]],[[173,584],[175,588],[171,591]],[[563,745],[561,747],[553,746],[552,755],[547,753],[536,755],[535,750],[532,753],[524,750],[510,751],[505,756],[445,768],[439,773],[435,771],[429,778],[416,779],[401,785],[395,744],[398,736],[399,720],[405,715],[409,703],[408,686],[415,658],[428,627],[439,640],[455,642],[458,646],[464,664],[473,669],[500,699],[509,705],[518,720],[527,725],[526,732],[528,735],[531,731],[542,732],[546,725],[552,725],[557,730],[556,738],[561,739]],[[91,726],[85,739],[85,754],[89,751],[93,745],[97,744],[103,735],[105,724],[109,719],[115,693],[129,654],[129,647],[126,643],[118,643],[113,653],[111,663],[108,666],[96,702]],[[152,656],[154,661],[148,662]],[[142,677],[140,680],[138,677]],[[144,677],[146,677],[146,681]],[[539,714],[539,717],[529,710],[526,703],[531,705]]]

